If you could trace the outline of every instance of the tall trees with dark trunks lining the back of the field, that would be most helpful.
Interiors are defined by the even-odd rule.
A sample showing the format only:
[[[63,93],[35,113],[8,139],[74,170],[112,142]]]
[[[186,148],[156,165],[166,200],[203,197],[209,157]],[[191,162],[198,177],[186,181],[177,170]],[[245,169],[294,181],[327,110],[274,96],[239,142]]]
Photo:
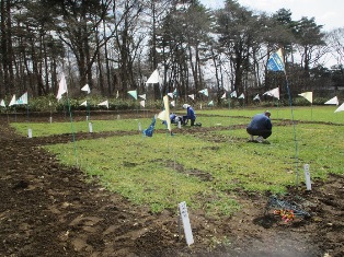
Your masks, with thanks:
[[[93,97],[125,101],[136,90],[156,101],[176,91],[196,102],[208,89],[218,105],[232,91],[251,104],[279,87],[283,104],[286,81],[291,96],[312,91],[313,104],[344,97],[344,27],[326,32],[314,17],[294,21],[290,10],[267,15],[234,0],[217,10],[198,0],[0,3],[0,98],[7,103],[24,92],[55,100],[62,72],[72,98],[84,98],[80,89],[89,84]],[[266,69],[278,48],[286,73]],[[335,65],[326,67],[329,59]],[[161,82],[146,84],[154,70]]]

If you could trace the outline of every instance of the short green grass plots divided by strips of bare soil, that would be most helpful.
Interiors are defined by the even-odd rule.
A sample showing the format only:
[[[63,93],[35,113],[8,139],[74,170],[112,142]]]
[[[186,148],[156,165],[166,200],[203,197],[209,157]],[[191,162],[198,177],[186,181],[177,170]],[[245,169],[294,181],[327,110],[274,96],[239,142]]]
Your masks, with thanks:
[[[325,179],[330,173],[344,174],[344,133],[343,126],[339,126],[343,125],[344,113],[333,114],[334,109],[312,107],[310,114],[308,107],[294,108],[296,120],[311,122],[274,126],[271,144],[248,143],[245,129],[231,127],[246,125],[251,116],[264,109],[202,110],[197,112],[197,120],[203,127],[223,130],[182,135],[173,128],[173,137],[154,132],[152,138],[138,133],[80,140],[76,142],[77,157],[90,179],[98,178],[108,190],[135,205],[149,206],[152,212],[174,210],[179,202],[186,201],[190,208],[211,217],[230,215],[240,209],[238,191],[284,194],[297,178],[302,187],[305,164],[310,165],[312,179]],[[290,118],[290,108],[270,110],[273,124]],[[129,131],[138,130],[138,122],[145,129],[151,119],[92,122],[94,131]],[[25,124],[12,126],[24,135],[27,131]],[[31,126],[36,137],[70,133],[70,124]],[[74,126],[76,131],[88,131],[85,121]],[[163,128],[157,121],[157,129]],[[45,148],[61,163],[76,164],[73,143]]]

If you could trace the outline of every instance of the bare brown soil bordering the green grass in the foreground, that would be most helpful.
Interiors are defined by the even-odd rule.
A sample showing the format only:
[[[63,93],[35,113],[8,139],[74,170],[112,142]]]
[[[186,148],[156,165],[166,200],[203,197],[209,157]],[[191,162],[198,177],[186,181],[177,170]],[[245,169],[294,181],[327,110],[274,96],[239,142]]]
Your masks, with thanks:
[[[125,132],[77,137],[116,133]],[[175,210],[152,214],[133,206],[38,148],[70,140],[18,136],[2,117],[0,256],[344,256],[343,176],[313,182],[311,192],[289,188],[285,200],[300,203],[309,219],[286,223],[273,209],[265,213],[270,196],[245,192],[233,194],[242,209],[232,218],[188,210],[195,243],[187,246]],[[203,175],[195,171],[192,175]]]

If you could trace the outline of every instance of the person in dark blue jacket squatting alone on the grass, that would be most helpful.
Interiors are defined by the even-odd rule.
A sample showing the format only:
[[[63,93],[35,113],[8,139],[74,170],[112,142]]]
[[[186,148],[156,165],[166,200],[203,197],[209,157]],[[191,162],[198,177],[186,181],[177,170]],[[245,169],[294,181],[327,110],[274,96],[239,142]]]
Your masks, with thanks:
[[[253,136],[257,136],[256,141],[263,142],[272,133],[273,125],[270,119],[271,113],[265,110],[264,114],[254,115],[249,124],[246,131],[250,135],[250,141],[254,141]]]

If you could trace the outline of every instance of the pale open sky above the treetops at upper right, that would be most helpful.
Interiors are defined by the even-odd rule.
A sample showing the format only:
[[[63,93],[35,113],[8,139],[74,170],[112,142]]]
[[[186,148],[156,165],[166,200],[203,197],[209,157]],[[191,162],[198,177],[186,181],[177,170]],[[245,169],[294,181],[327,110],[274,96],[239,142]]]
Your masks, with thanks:
[[[223,7],[223,0],[200,0],[208,8]],[[275,13],[282,8],[289,9],[293,20],[301,16],[314,17],[324,31],[344,27],[344,0],[238,0],[240,5],[251,10]]]

